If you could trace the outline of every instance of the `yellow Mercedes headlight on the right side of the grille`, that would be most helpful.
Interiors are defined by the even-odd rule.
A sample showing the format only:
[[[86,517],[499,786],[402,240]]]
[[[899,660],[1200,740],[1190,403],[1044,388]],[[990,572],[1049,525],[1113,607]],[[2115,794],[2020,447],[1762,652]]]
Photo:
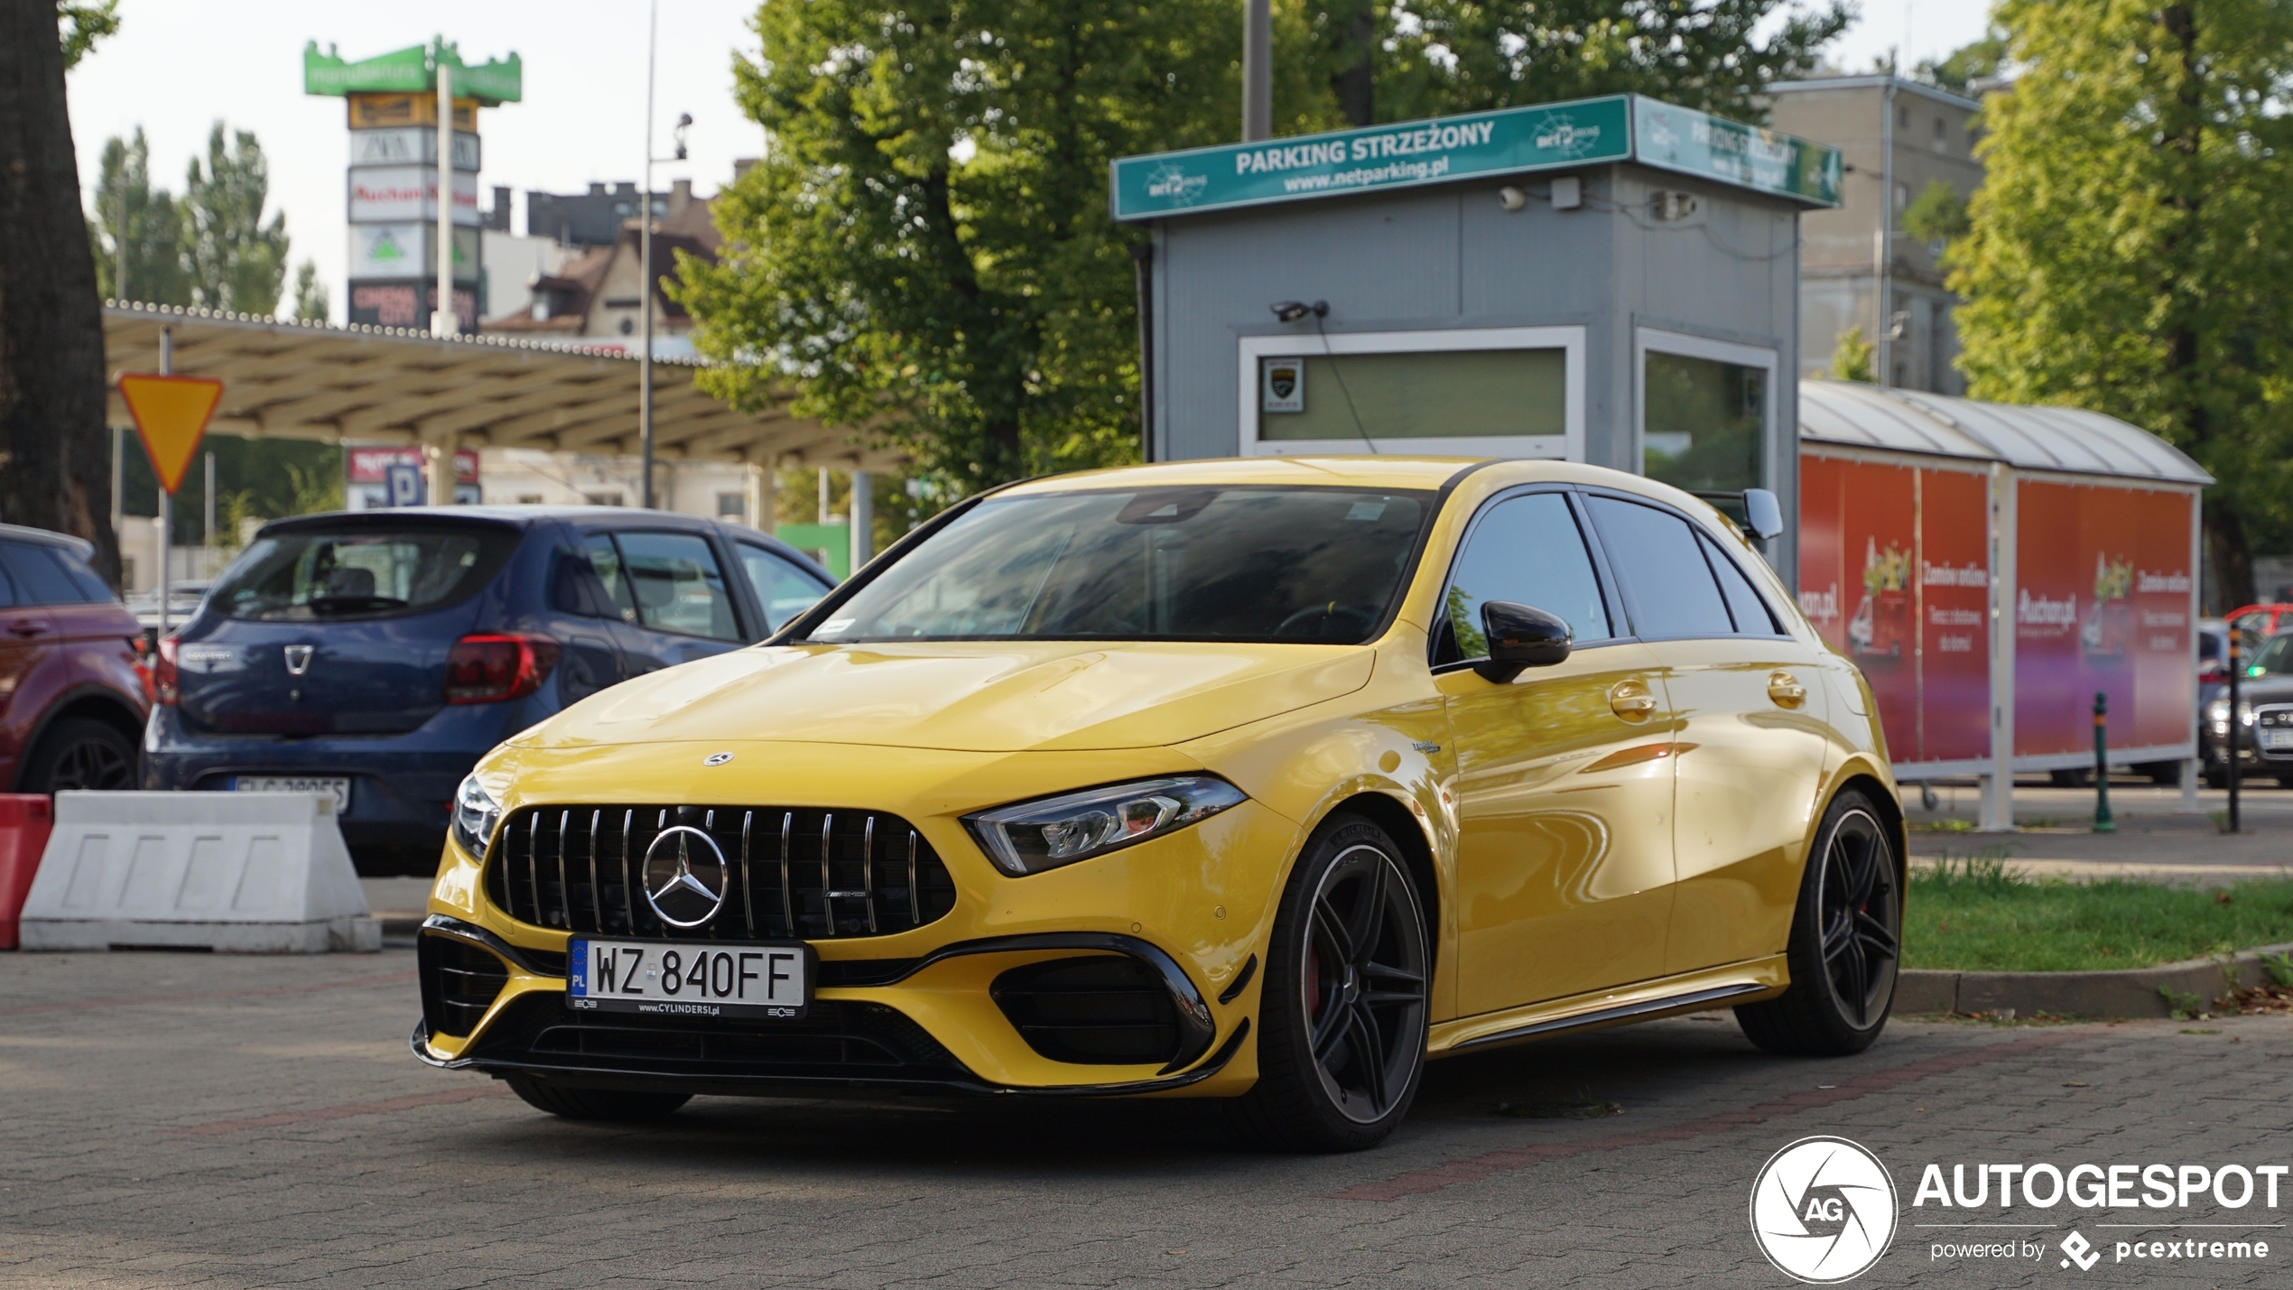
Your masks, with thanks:
[[[997,807],[963,823],[997,868],[1025,878],[1179,832],[1241,802],[1243,790],[1224,779],[1174,774]]]

